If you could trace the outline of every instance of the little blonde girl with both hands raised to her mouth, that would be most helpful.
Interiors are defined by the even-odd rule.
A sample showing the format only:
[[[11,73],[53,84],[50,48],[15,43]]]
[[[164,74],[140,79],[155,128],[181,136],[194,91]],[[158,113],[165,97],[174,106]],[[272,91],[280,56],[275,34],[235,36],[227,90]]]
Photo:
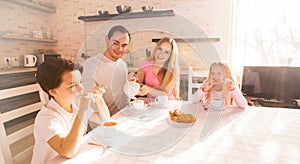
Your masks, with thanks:
[[[193,95],[194,103],[202,103],[204,109],[211,105],[212,99],[224,99],[224,105],[236,105],[246,108],[247,100],[235,85],[229,66],[226,63],[211,64],[209,76]]]

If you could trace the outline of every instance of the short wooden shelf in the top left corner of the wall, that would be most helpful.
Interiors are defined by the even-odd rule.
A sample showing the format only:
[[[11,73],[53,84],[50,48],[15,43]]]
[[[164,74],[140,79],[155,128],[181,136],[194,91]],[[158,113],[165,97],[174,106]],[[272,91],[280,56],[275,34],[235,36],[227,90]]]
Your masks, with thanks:
[[[16,4],[16,5],[20,5],[20,6],[25,6],[25,7],[31,8],[31,9],[43,11],[43,12],[48,12],[48,13],[55,13],[56,12],[55,8],[54,9],[48,8],[46,6],[42,6],[42,5],[35,4],[33,2],[28,2],[28,1],[25,1],[25,0],[4,0],[4,1]]]

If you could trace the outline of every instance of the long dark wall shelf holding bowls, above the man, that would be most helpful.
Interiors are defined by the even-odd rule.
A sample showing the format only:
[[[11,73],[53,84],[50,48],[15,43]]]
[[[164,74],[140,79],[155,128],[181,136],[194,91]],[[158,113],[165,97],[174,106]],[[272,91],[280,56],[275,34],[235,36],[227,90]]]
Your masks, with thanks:
[[[114,19],[135,19],[135,18],[151,18],[151,17],[166,17],[174,16],[173,10],[163,11],[147,11],[147,12],[128,12],[124,14],[107,14],[107,15],[92,15],[92,16],[79,16],[78,19],[85,22],[104,21]]]

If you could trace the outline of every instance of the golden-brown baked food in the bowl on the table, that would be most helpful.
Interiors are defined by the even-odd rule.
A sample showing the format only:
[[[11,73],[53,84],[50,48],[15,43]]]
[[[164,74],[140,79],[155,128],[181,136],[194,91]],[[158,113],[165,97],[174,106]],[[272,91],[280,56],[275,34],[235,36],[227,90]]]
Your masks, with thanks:
[[[169,115],[172,121],[178,123],[194,123],[196,121],[195,116],[193,116],[192,114],[185,114],[178,109],[169,111]]]

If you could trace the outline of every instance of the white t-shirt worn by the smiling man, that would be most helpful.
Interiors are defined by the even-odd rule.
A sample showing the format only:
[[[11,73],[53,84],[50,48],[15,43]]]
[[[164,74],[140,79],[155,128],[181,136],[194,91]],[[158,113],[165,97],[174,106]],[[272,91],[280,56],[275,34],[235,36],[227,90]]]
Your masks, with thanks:
[[[82,83],[85,91],[93,91],[96,83],[107,86],[103,99],[111,115],[129,104],[129,97],[123,91],[128,81],[128,70],[122,59],[114,62],[99,53],[85,60],[82,65]]]

